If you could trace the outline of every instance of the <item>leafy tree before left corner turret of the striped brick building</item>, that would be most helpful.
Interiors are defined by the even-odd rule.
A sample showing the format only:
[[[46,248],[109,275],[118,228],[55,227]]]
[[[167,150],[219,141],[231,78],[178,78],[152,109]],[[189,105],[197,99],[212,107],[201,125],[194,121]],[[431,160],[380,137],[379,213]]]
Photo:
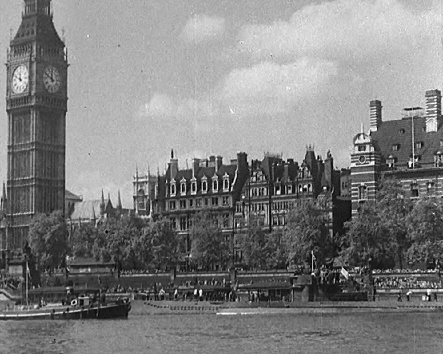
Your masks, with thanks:
[[[372,269],[392,268],[395,247],[389,238],[389,229],[377,213],[376,204],[362,204],[359,214],[345,227],[348,231],[341,239],[341,254],[347,262]]]

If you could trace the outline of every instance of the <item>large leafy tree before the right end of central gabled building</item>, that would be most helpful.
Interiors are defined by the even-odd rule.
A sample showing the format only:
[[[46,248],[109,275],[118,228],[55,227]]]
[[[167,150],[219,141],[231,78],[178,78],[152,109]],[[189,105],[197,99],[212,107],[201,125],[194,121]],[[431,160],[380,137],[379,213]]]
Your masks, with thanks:
[[[334,252],[334,244],[326,226],[325,208],[314,200],[307,200],[293,208],[282,241],[287,250],[287,263],[291,268],[307,266],[314,252],[318,264],[324,264]]]

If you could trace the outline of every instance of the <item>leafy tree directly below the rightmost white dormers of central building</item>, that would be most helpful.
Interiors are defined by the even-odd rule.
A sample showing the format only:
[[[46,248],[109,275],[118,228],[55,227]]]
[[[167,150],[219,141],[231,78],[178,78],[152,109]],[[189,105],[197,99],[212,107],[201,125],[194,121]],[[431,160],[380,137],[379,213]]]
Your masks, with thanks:
[[[209,270],[213,266],[226,265],[231,256],[230,242],[216,221],[209,214],[194,216],[190,229],[191,264]]]

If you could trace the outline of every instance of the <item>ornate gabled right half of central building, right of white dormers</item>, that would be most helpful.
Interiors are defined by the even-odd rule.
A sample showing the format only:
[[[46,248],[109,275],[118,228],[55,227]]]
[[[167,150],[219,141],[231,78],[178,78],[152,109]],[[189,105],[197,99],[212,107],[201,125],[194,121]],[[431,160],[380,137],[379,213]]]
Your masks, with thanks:
[[[237,204],[235,226],[238,232],[248,219],[256,217],[269,231],[284,227],[288,213],[303,200],[319,200],[328,211],[331,235],[340,231],[349,219],[350,201],[339,200],[340,171],[334,169],[330,151],[326,160],[315,157],[314,147],[307,146],[301,165],[278,154],[265,154],[262,161],[253,160],[249,178]]]

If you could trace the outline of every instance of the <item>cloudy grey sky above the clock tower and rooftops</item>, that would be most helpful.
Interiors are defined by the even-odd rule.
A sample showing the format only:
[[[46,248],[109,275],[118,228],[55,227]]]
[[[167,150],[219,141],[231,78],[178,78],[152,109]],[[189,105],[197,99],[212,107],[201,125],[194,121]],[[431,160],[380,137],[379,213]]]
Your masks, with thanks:
[[[441,0],[52,2],[70,62],[66,187],[85,199],[120,189],[131,205],[136,164],[163,172],[172,148],[186,167],[238,151],[301,162],[315,144],[347,167],[370,100],[396,119],[443,88]],[[22,3],[0,0],[4,62]],[[4,179],[3,99],[0,117]]]

